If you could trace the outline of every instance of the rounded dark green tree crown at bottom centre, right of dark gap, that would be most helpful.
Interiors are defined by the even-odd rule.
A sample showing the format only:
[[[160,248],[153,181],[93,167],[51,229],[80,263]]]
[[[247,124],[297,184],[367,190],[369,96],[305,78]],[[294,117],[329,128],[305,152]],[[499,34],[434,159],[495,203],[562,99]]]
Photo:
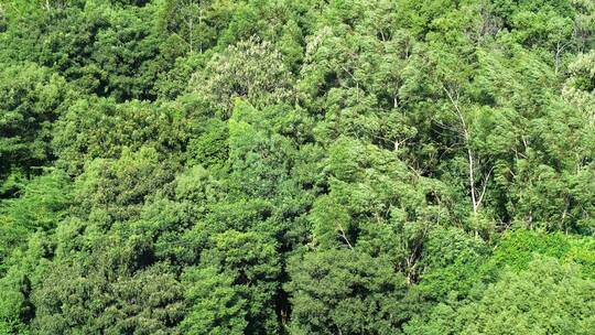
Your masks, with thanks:
[[[349,249],[292,259],[295,334],[394,334],[412,309],[405,279],[383,258]]]

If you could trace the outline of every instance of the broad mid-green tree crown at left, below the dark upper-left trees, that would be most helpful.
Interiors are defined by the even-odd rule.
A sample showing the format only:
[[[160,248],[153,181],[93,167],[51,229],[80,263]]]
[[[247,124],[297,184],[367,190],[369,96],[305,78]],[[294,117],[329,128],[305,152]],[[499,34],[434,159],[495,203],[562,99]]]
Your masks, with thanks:
[[[192,130],[192,117],[177,106],[154,106],[112,99],[79,99],[55,122],[52,145],[57,165],[78,174],[94,159],[117,159],[122,151],[152,147],[159,153],[180,153]]]

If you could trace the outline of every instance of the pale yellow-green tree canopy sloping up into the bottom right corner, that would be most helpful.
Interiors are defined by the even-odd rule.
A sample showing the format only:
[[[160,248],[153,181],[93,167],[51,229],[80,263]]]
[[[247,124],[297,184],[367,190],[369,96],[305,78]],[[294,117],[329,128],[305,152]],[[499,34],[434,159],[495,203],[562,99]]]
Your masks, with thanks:
[[[439,305],[429,322],[410,323],[405,333],[588,333],[593,292],[593,281],[582,279],[576,268],[538,258],[524,271],[506,271],[477,301],[455,309]]]

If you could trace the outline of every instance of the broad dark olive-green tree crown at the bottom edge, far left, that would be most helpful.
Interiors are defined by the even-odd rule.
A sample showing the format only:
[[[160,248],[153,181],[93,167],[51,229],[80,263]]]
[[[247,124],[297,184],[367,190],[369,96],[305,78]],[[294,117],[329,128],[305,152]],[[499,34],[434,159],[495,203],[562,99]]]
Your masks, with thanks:
[[[98,269],[55,264],[32,298],[37,306],[32,328],[37,334],[176,334],[172,322],[182,315],[181,285],[165,266],[115,281]],[[104,268],[106,269],[106,268]],[[52,283],[52,284],[50,284]]]

